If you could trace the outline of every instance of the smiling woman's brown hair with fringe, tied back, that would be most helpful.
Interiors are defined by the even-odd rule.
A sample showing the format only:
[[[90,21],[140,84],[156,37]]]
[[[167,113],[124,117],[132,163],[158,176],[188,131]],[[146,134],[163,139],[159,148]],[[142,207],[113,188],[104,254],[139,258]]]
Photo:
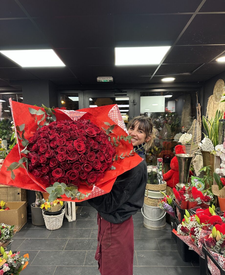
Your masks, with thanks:
[[[145,132],[146,138],[150,137],[150,140],[147,142],[145,141],[145,145],[144,145],[144,149],[145,151],[147,151],[153,145],[153,141],[154,141],[154,138],[156,137],[157,131],[154,128],[151,117],[142,117],[142,116],[137,116],[131,119],[127,125],[127,129],[134,128],[137,123],[139,123],[138,128]]]

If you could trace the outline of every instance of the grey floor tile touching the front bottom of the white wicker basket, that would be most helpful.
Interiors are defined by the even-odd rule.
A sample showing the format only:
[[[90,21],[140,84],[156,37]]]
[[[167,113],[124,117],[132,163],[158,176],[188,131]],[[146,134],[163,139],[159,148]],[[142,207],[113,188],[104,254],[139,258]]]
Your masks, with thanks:
[[[59,228],[52,230],[49,238],[90,238],[91,231],[91,228]]]

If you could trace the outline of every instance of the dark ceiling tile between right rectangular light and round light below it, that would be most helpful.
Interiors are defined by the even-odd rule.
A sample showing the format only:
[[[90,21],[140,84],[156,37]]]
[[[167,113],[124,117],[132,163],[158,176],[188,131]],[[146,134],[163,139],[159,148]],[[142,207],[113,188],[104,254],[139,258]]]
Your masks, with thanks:
[[[162,64],[156,75],[172,75],[177,73],[191,73],[201,64]]]

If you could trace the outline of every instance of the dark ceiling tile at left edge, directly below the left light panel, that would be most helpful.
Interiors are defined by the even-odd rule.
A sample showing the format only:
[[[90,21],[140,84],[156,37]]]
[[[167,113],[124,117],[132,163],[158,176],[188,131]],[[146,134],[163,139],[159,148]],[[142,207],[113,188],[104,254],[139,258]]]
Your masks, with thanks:
[[[0,68],[0,78],[13,79],[37,79],[34,75],[22,68]]]

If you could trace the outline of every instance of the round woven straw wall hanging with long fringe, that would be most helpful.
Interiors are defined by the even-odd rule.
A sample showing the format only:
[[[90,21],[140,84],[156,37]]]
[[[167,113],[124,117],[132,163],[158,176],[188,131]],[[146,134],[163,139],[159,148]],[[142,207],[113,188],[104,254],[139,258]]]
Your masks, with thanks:
[[[215,117],[216,110],[224,112],[225,110],[225,102],[220,102],[221,97],[224,94],[224,81],[223,79],[218,79],[213,89],[213,94],[208,98],[207,108],[206,108],[206,116],[211,119]]]

